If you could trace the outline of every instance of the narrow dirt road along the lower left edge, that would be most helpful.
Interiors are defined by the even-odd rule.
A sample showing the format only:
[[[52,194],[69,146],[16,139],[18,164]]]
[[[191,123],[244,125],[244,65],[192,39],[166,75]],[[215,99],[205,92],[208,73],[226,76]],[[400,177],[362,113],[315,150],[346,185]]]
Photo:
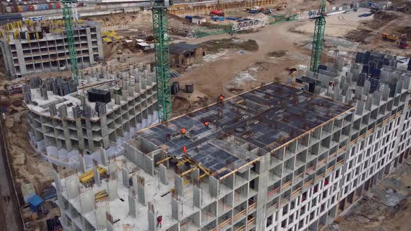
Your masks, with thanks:
[[[6,152],[3,125],[0,120],[0,230],[24,230]]]

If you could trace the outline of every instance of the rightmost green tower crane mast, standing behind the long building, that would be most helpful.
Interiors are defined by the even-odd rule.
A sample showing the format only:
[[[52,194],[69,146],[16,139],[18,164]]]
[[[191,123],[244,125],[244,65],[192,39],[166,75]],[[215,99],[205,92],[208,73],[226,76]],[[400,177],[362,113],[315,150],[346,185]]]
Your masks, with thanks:
[[[324,32],[325,32],[325,0],[321,0],[319,17],[316,19],[316,26],[313,35],[313,49],[311,51],[311,72],[318,72],[318,65],[321,62],[321,53],[323,52]]]

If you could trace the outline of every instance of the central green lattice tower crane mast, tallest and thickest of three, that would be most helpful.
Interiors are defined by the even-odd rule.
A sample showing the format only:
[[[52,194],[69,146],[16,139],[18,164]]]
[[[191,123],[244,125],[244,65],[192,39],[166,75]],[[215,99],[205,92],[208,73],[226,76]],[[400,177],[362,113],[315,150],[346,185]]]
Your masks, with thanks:
[[[171,78],[170,78],[170,51],[169,51],[169,22],[167,7],[173,1],[153,1],[153,34],[155,77],[157,81],[157,109],[161,121],[171,118]]]

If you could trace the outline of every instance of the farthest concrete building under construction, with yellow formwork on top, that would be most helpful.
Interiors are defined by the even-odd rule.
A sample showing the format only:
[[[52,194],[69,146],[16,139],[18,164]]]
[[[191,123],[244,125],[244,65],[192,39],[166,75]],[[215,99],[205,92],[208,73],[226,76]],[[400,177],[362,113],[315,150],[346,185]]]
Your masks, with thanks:
[[[80,21],[73,26],[79,68],[104,58],[100,24]],[[0,33],[0,68],[9,78],[70,70],[63,21],[13,22]]]

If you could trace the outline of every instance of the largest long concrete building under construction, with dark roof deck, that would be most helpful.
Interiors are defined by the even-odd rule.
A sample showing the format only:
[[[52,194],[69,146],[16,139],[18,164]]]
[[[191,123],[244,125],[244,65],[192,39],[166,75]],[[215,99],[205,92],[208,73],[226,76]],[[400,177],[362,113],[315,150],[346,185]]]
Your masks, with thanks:
[[[329,225],[408,157],[411,72],[371,53],[346,67],[339,60],[321,68],[301,78],[307,88],[315,83],[316,94],[269,83],[143,129],[124,143],[124,156],[101,152],[86,173],[56,172],[63,226]]]

